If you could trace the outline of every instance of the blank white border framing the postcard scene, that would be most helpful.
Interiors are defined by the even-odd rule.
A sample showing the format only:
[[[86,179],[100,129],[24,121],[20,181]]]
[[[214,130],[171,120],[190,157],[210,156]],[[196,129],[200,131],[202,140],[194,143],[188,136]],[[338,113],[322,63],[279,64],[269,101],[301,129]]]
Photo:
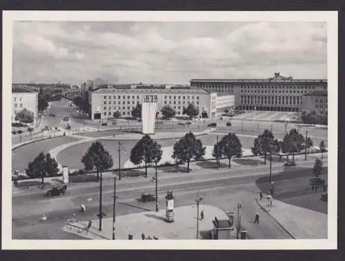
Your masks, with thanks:
[[[3,11],[3,249],[337,249],[337,12]],[[11,133],[13,21],[326,21],[328,32],[327,240],[12,240]],[[4,164],[7,163],[7,164]]]

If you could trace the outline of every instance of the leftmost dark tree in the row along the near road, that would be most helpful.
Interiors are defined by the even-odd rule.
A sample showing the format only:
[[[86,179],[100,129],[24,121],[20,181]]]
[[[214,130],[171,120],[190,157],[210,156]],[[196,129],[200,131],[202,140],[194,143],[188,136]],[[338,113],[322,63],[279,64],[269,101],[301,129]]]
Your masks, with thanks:
[[[41,152],[28,164],[26,174],[31,178],[41,178],[43,185],[46,176],[56,176],[58,171],[58,163],[55,158],[52,158],[49,153],[44,155]]]

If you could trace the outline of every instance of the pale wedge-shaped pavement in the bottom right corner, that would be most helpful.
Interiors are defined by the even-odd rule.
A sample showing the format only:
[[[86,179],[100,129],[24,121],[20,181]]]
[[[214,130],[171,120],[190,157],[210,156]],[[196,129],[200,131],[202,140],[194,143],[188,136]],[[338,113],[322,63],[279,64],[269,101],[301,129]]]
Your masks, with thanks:
[[[273,205],[270,207],[265,198],[257,200],[257,204],[295,239],[328,238],[328,215],[325,213],[289,205],[279,200],[273,200]]]

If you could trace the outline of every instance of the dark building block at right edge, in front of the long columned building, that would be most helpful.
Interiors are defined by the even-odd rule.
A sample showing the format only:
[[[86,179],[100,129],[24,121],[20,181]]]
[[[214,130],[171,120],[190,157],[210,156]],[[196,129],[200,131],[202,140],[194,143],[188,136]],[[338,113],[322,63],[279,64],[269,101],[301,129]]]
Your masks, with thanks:
[[[326,90],[315,90],[309,94],[304,94],[302,111],[315,111],[322,115],[328,115],[328,101]]]

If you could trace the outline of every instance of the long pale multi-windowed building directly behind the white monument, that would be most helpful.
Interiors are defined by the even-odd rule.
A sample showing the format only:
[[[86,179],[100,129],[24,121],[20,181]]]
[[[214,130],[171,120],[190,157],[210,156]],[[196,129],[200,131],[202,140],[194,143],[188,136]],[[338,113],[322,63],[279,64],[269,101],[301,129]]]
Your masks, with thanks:
[[[137,88],[137,89],[119,89],[99,88],[93,90],[91,94],[91,118],[110,119],[114,112],[119,111],[121,116],[131,116],[132,109],[137,103],[143,103],[145,100],[157,101],[158,109],[161,110],[164,105],[170,105],[176,111],[176,116],[183,116],[184,108],[193,103],[199,109],[199,118],[215,118],[217,115],[217,94],[206,90],[186,89],[168,89],[168,88]],[[229,103],[233,96],[228,96]],[[231,105],[224,103],[221,99],[220,107],[224,109]],[[224,111],[224,110],[223,110]],[[159,112],[160,113],[160,112]],[[219,114],[220,114],[219,110]]]

